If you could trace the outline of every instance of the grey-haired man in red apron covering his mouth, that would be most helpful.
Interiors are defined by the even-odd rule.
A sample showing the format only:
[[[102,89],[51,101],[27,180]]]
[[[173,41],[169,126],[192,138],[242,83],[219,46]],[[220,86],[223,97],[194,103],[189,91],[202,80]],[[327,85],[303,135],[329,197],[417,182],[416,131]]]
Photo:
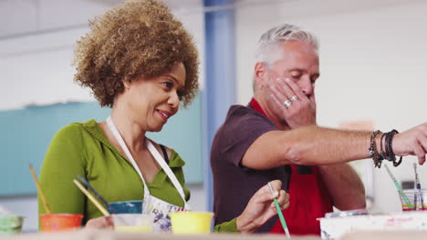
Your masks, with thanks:
[[[255,93],[248,105],[230,107],[211,151],[214,220],[240,213],[261,185],[283,182],[290,206],[283,211],[291,235],[319,235],[318,217],[364,208],[365,192],[347,162],[372,158],[399,165],[397,156],[427,150],[427,123],[401,134],[345,131],[316,122],[318,41],[295,25],[268,30],[258,42]],[[257,223],[252,223],[257,225]],[[258,232],[283,233],[276,218]]]

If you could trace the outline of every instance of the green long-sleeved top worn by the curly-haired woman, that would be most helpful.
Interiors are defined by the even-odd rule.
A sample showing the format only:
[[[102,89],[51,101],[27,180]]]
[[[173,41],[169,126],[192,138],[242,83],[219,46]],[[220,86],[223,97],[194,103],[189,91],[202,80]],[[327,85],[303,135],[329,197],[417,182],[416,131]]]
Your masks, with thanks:
[[[172,150],[169,166],[182,185],[188,201],[190,191],[184,186],[184,164],[182,158]],[[72,182],[78,175],[85,177],[109,203],[141,200],[144,197],[140,175],[116,147],[111,145],[93,119],[86,123],[67,125],[57,132],[47,149],[40,174],[40,185],[52,212],[84,215],[83,224],[86,224],[89,219],[102,214]],[[151,195],[183,207],[180,194],[162,169],[147,185]],[[38,213],[46,213],[40,199]],[[235,224],[234,218],[230,222],[216,225],[214,231],[237,232]]]

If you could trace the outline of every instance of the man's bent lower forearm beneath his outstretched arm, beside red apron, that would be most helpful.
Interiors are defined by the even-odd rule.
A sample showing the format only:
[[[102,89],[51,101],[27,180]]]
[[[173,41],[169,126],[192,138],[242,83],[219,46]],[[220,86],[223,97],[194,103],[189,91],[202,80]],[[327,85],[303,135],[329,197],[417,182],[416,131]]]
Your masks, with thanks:
[[[366,207],[365,187],[359,175],[346,164],[319,166],[333,204],[341,211]]]

